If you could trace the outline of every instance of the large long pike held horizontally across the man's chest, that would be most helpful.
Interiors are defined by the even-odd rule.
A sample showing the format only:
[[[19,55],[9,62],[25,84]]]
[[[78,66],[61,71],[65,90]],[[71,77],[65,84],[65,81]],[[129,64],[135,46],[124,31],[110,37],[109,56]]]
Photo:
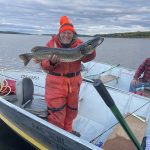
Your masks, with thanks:
[[[82,43],[76,48],[48,48],[36,46],[32,48],[32,53],[21,54],[19,57],[23,60],[25,66],[32,58],[37,60],[49,59],[53,54],[58,55],[62,62],[73,62],[91,54],[103,41],[104,38],[101,38],[100,35],[96,35],[94,38]]]

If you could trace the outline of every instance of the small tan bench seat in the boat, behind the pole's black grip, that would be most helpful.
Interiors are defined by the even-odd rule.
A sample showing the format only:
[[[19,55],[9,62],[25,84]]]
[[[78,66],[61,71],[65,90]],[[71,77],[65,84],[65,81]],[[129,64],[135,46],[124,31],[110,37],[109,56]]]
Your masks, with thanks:
[[[101,76],[100,77],[100,80],[105,84],[105,83],[108,83],[108,82],[111,82],[113,80],[118,80],[119,77],[118,76],[115,76],[115,75],[111,75],[111,74],[108,74],[108,75],[104,75],[104,76]]]

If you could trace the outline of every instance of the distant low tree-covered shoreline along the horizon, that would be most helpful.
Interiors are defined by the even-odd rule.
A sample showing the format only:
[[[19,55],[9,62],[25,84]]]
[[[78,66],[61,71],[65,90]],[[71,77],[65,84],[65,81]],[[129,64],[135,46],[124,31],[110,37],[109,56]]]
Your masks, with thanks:
[[[55,34],[30,34],[30,33],[14,32],[14,31],[0,31],[0,34],[23,34],[23,35],[45,35],[45,36],[55,35]],[[94,35],[78,34],[78,36],[93,37]],[[111,38],[150,38],[150,31],[101,34],[101,36],[111,37]]]

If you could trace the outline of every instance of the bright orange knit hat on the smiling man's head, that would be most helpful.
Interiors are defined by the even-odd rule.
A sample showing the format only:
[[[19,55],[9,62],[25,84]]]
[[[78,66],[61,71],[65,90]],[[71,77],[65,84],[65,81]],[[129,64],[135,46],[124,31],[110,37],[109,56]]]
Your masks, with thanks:
[[[60,17],[60,29],[59,29],[59,33],[62,33],[66,30],[70,30],[72,32],[76,32],[74,29],[73,24],[71,23],[71,21],[69,20],[69,18],[67,16],[62,16]]]

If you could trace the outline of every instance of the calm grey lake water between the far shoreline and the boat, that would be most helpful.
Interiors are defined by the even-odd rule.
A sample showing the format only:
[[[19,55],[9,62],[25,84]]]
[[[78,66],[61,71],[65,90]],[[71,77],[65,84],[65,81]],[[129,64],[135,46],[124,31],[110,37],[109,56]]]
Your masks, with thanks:
[[[23,67],[18,55],[30,52],[34,46],[44,46],[50,38],[43,35],[0,34],[0,68]],[[96,51],[96,62],[136,69],[145,58],[150,57],[150,39],[105,38]],[[31,67],[35,68],[32,62],[27,68]]]

